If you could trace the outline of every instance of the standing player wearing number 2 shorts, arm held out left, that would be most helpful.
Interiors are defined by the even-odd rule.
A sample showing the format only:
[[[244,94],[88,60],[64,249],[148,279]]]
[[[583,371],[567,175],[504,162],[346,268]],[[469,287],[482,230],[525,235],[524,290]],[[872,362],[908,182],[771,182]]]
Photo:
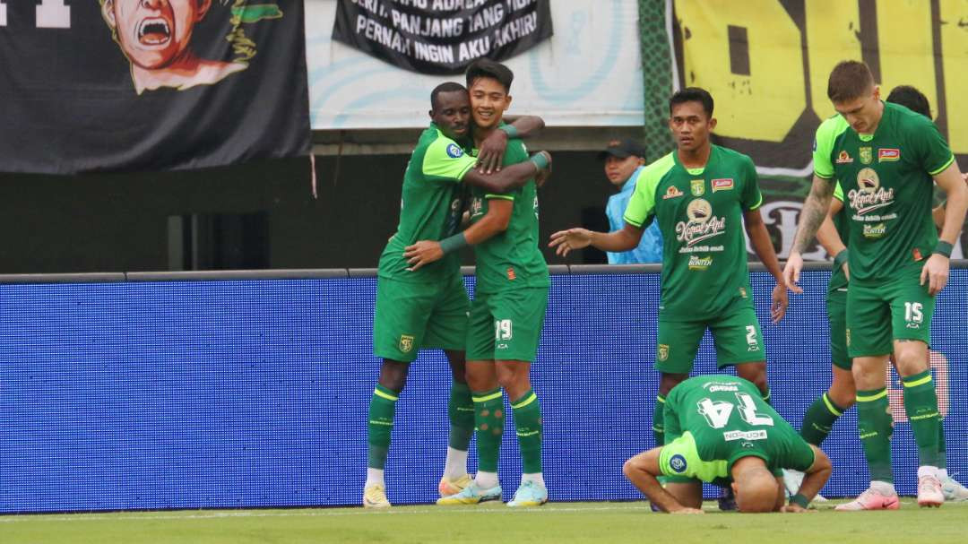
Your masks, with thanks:
[[[741,378],[770,398],[766,351],[753,308],[746,268],[745,226],[753,249],[776,278],[771,317],[787,307],[787,291],[770,235],[760,216],[753,162],[713,145],[712,97],[704,89],[683,89],[669,100],[669,127],[677,150],[646,166],[625,210],[625,227],[614,232],[570,228],[552,234],[558,254],[592,245],[622,252],[638,245],[654,220],[662,231],[662,298],[655,369],[661,373],[652,410],[656,445],[663,438],[665,396],[688,378],[703,333],[712,331],[719,368],[736,366]]]

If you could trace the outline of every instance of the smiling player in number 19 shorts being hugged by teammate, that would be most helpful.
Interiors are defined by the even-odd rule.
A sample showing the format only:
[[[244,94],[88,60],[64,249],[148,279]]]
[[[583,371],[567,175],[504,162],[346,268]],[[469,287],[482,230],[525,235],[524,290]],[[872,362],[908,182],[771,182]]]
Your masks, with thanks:
[[[514,75],[494,61],[470,65],[467,79],[474,120],[474,142],[499,131],[504,111],[511,105]],[[532,157],[541,164],[544,158]],[[529,162],[519,139],[508,142],[504,166]],[[548,306],[548,265],[537,245],[538,200],[535,183],[515,191],[474,188],[471,226],[457,237],[474,247],[476,282],[468,326],[467,377],[474,403],[478,470],[460,493],[438,504],[476,504],[501,498],[498,461],[504,429],[503,395],[507,391],[521,450],[521,486],[507,505],[538,506],[548,500],[541,468],[541,408],[530,385],[530,366],[537,354],[541,326]],[[444,240],[441,245],[447,242]],[[424,254],[437,257],[435,242],[408,248],[415,266]]]

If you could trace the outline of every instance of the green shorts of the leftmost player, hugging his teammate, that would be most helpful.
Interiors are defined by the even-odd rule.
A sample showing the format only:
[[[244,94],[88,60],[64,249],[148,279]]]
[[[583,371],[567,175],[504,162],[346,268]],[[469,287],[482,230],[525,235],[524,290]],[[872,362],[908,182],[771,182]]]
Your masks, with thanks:
[[[457,271],[440,284],[377,278],[374,353],[408,363],[425,348],[464,350],[468,337],[468,291]]]

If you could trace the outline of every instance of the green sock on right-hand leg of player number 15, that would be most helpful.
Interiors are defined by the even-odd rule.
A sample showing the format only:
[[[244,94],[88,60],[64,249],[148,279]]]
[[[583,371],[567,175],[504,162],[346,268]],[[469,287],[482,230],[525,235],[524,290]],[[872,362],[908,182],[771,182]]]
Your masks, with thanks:
[[[941,416],[931,371],[901,378],[904,385],[904,410],[907,411],[914,440],[918,443],[921,465],[944,467],[940,450]]]

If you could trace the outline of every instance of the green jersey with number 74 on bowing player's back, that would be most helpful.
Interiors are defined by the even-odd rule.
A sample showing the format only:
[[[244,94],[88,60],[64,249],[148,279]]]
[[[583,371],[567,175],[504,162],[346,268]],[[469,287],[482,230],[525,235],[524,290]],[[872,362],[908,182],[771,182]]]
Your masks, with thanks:
[[[666,443],[659,468],[712,482],[729,478],[741,457],[756,456],[767,468],[806,470],[813,450],[745,379],[697,376],[666,396]]]

